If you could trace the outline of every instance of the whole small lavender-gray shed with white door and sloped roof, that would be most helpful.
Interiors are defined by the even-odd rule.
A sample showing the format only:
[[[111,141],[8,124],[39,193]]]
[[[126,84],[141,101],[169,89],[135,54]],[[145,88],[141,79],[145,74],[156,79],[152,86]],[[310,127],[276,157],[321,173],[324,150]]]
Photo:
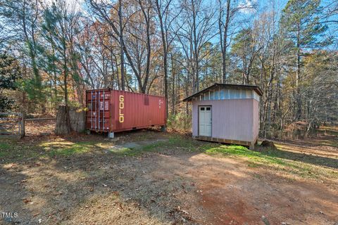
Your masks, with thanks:
[[[258,86],[216,83],[185,98],[192,102],[193,138],[253,149],[258,139],[262,94]]]

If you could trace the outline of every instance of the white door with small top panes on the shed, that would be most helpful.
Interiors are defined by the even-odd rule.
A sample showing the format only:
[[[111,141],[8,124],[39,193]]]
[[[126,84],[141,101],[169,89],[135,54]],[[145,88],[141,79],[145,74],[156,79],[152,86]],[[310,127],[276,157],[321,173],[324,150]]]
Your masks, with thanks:
[[[199,136],[211,136],[211,106],[199,106]]]

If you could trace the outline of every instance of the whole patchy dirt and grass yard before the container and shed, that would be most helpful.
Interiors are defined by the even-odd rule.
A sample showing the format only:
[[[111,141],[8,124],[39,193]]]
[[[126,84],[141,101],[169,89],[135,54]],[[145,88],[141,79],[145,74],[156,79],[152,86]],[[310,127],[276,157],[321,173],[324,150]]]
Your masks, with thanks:
[[[86,136],[4,143],[11,153],[24,154],[20,147],[34,154],[0,155],[0,211],[18,212],[0,224],[338,222],[337,138],[332,145],[279,143],[278,153],[250,155],[144,132],[114,143]],[[329,146],[330,154],[320,146]],[[214,153],[219,148],[227,152]],[[62,154],[46,153],[55,149]],[[321,160],[311,161],[318,151]]]

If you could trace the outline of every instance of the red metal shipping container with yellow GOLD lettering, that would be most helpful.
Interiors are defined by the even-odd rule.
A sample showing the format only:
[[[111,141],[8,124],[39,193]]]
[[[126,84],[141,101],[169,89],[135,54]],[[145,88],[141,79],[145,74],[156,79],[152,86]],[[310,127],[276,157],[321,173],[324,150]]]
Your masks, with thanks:
[[[86,128],[118,132],[165,126],[165,99],[130,91],[95,89],[86,91]]]

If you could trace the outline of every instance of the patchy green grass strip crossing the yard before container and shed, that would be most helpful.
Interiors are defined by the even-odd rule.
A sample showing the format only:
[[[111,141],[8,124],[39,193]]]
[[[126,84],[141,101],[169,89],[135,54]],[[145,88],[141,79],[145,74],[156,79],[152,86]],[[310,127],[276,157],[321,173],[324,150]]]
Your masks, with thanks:
[[[141,143],[148,136],[139,136],[135,143]],[[133,140],[134,141],[134,140]],[[114,148],[113,146],[118,146]],[[106,139],[94,141],[71,141],[57,138],[54,140],[21,142],[6,139],[0,143],[0,160],[17,162],[25,159],[70,157],[87,153],[110,152],[116,156],[137,156],[144,153],[184,150],[194,153],[206,153],[213,157],[241,158],[249,167],[265,167],[280,172],[312,179],[338,179],[338,159],[318,155],[295,153],[288,148],[278,146],[277,149],[258,148],[249,150],[244,146],[220,145],[185,138],[178,134],[170,134],[168,139],[154,143],[142,142],[136,147],[124,147]]]

